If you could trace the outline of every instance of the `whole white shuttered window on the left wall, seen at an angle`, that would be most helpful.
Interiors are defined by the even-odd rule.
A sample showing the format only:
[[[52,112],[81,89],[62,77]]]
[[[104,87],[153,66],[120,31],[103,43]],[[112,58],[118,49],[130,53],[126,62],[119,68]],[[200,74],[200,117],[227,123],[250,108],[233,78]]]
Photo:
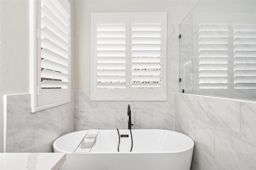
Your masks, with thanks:
[[[30,1],[30,22],[30,91],[34,112],[70,101],[68,0]]]

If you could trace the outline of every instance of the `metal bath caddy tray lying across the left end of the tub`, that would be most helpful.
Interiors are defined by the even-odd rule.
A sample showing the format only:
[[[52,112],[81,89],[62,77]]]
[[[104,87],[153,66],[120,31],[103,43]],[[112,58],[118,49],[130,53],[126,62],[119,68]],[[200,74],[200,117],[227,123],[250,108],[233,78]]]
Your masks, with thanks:
[[[99,130],[88,130],[78,147],[73,153],[88,153],[96,143]]]

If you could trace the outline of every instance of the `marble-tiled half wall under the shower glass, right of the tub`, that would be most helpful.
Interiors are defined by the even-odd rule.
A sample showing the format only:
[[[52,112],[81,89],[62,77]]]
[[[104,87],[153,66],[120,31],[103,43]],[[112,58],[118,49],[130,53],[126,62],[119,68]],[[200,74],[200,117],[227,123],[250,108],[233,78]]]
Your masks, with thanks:
[[[256,103],[175,94],[176,131],[194,142],[192,170],[256,169]]]

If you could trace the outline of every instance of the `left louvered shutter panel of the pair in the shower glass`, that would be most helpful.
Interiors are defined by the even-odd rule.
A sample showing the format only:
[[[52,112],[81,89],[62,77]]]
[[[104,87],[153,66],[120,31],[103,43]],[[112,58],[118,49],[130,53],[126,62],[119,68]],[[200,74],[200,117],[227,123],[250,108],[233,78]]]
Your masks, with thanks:
[[[228,25],[199,25],[199,88],[228,88]]]

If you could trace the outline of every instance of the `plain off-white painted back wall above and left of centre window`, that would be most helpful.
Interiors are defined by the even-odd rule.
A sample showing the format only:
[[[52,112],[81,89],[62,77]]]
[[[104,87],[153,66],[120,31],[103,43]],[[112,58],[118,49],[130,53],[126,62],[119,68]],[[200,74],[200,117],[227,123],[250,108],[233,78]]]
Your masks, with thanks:
[[[75,1],[75,90],[90,90],[90,13],[167,12],[168,25],[179,24],[197,0],[84,0]],[[172,31],[172,30],[170,30]],[[170,32],[168,32],[170,34]],[[168,36],[168,35],[167,35]],[[178,40],[175,48],[178,50]],[[178,55],[178,54],[177,54]]]

